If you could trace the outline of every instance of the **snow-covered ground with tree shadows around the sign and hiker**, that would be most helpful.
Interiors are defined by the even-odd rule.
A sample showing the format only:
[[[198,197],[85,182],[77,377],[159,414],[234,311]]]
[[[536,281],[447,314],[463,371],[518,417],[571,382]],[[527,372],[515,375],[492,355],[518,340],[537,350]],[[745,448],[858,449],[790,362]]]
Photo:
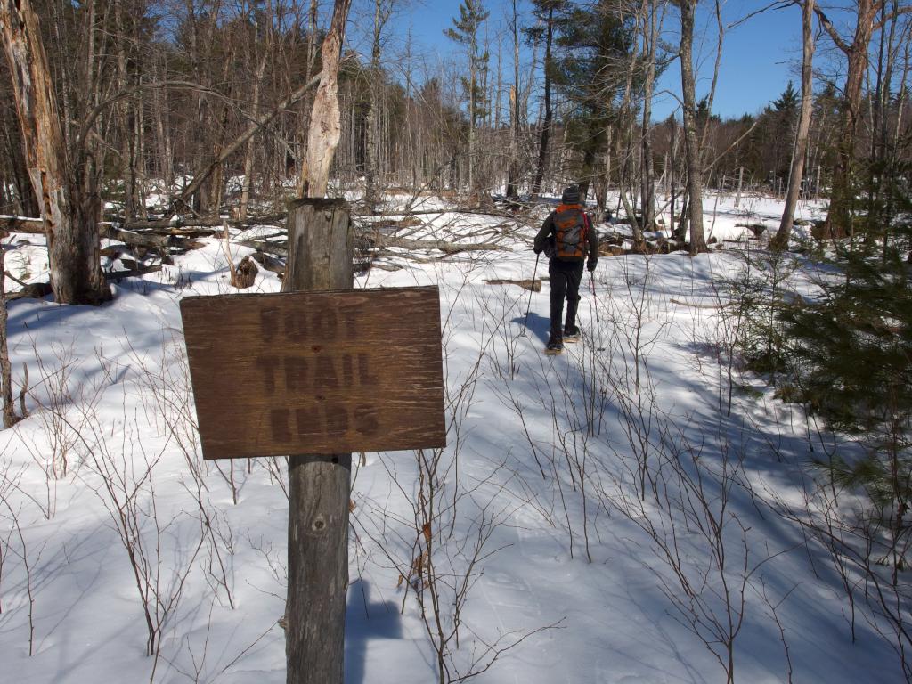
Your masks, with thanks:
[[[720,239],[781,212],[713,204]],[[449,433],[355,458],[348,684],[426,684],[439,662],[523,684],[904,679],[884,624],[856,605],[853,630],[832,558],[780,514],[806,500],[803,412],[735,369],[729,415],[733,244],[602,258],[583,342],[544,357],[547,284],[485,283],[532,277],[534,225],[421,218],[412,239],[500,231],[505,250],[358,277],[440,287]],[[31,280],[47,259],[22,246],[6,264]],[[261,271],[254,290],[279,285]],[[223,247],[115,287],[98,308],[9,306],[29,416],[0,432],[0,679],[284,682],[284,464],[203,462],[193,429],[178,305],[233,291]]]

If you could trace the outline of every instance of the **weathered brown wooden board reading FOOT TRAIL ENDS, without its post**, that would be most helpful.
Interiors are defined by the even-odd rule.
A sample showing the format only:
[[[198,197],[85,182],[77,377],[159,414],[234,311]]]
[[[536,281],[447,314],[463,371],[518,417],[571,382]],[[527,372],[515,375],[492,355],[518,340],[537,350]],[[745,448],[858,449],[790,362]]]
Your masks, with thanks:
[[[181,300],[206,459],[446,442],[436,287]]]

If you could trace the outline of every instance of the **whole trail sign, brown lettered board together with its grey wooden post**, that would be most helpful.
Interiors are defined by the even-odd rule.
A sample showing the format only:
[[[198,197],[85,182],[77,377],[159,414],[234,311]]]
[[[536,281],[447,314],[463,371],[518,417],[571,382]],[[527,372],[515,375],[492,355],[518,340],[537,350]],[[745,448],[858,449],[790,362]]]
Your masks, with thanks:
[[[288,684],[342,684],[351,451],[442,447],[436,287],[353,290],[347,204],[288,213],[285,294],[187,297],[203,457],[290,454]]]

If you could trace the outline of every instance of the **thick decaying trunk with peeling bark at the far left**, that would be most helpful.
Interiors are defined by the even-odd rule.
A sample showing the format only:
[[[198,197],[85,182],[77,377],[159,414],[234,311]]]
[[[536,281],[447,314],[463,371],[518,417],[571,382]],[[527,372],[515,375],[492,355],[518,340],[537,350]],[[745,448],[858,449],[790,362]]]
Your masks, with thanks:
[[[98,249],[101,200],[96,176],[83,151],[78,150],[70,169],[47,55],[29,0],[0,2],[0,33],[13,75],[26,165],[45,223],[55,299],[60,304],[99,304],[110,298],[110,289]]]

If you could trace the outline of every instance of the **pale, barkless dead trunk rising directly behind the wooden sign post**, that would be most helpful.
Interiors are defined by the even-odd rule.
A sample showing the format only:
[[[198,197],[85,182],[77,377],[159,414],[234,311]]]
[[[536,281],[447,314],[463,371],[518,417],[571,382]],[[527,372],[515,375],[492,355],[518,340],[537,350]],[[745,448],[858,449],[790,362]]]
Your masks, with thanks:
[[[338,101],[338,69],[345,39],[345,25],[351,0],[336,0],[329,32],[323,40],[320,56],[323,69],[320,84],[316,87],[314,107],[307,131],[307,154],[301,177],[304,179],[304,197],[325,197],[329,183],[329,169],[341,137]]]

